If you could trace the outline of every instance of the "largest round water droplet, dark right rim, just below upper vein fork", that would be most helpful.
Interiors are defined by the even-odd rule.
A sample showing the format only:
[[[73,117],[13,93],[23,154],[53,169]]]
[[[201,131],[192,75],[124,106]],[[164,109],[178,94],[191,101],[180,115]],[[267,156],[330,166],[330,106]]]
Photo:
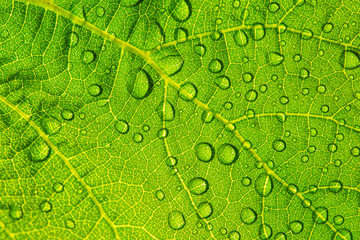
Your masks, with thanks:
[[[150,74],[144,69],[136,69],[135,72],[132,72],[128,77],[126,82],[126,88],[128,93],[136,99],[144,99],[153,90],[153,80]]]

